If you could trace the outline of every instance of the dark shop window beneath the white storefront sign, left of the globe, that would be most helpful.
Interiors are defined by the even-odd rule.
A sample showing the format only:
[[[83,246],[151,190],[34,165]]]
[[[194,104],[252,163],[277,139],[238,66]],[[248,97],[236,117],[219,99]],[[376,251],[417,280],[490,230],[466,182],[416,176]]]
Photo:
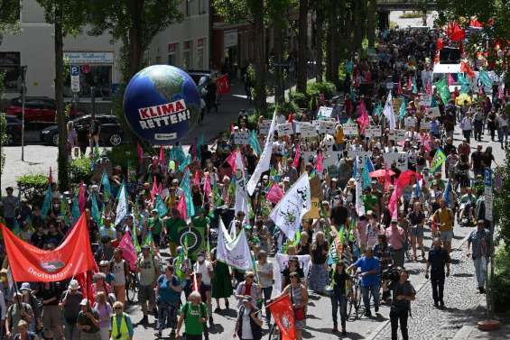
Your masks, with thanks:
[[[91,88],[95,87],[96,98],[111,99],[113,65],[82,64],[79,74],[79,96],[90,97]],[[72,96],[70,90],[70,73],[64,82],[64,96]]]

